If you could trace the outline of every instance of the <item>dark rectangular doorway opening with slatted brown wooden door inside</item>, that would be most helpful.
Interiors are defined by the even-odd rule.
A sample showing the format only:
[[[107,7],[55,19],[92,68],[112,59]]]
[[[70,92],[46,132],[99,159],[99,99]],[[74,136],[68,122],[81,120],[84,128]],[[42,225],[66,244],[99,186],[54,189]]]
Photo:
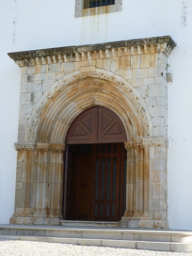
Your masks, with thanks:
[[[119,221],[125,204],[124,144],[68,145],[64,170],[64,219]]]

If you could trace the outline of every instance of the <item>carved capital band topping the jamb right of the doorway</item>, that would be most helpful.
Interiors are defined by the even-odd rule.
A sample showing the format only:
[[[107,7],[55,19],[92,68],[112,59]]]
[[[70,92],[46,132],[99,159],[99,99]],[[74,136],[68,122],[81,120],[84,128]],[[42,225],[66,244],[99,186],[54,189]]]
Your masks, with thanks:
[[[151,138],[143,138],[139,140],[126,141],[124,144],[125,144],[126,150],[131,150],[133,148],[157,147],[157,146],[163,146],[165,148],[168,148],[169,141],[162,137],[151,137]]]

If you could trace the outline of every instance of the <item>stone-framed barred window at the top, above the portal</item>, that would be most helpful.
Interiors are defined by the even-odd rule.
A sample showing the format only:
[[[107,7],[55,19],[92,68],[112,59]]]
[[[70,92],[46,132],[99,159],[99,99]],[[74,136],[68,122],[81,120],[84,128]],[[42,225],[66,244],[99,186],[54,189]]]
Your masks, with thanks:
[[[122,0],[75,0],[75,17],[122,11]]]

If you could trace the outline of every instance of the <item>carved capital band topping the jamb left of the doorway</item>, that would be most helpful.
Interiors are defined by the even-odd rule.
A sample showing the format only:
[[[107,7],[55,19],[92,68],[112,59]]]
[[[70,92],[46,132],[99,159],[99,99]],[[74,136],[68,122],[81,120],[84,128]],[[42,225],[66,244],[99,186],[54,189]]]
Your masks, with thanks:
[[[15,142],[15,150],[37,150],[37,151],[65,151],[65,144],[43,143],[43,142]]]

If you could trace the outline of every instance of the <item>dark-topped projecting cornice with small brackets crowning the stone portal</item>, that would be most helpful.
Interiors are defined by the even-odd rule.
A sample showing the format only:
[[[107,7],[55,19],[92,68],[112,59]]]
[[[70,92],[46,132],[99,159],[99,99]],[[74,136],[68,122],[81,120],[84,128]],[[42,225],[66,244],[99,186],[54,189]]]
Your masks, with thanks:
[[[24,67],[156,52],[169,54],[175,46],[176,43],[170,36],[159,36],[90,45],[13,52],[8,53],[8,56],[13,59],[19,67]]]

